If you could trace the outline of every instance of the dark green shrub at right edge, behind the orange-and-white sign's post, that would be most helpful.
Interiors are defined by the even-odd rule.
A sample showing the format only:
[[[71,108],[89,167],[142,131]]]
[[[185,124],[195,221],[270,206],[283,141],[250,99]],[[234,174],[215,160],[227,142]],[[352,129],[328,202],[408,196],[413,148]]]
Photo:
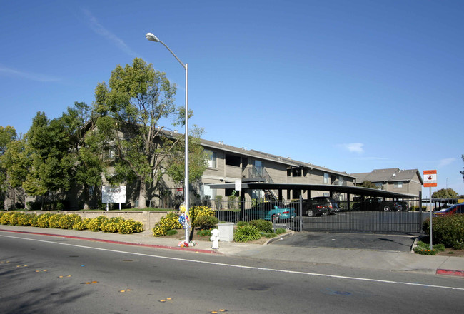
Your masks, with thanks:
[[[423,223],[423,231],[430,234],[430,221]],[[433,243],[442,243],[446,248],[464,248],[464,215],[455,214],[433,218]]]

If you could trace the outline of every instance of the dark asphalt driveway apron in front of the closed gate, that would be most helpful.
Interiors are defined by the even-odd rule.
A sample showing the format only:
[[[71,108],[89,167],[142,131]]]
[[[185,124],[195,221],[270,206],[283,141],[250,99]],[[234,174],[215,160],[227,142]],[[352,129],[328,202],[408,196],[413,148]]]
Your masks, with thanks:
[[[358,248],[410,252],[417,236],[375,233],[296,232],[271,245],[289,245],[308,248]]]

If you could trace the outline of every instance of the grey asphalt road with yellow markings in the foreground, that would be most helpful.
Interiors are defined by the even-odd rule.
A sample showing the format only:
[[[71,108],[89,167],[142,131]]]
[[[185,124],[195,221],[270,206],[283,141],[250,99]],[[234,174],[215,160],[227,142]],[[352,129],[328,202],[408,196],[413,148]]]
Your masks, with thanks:
[[[0,278],[11,314],[462,313],[464,296],[454,278],[32,235],[0,236]]]

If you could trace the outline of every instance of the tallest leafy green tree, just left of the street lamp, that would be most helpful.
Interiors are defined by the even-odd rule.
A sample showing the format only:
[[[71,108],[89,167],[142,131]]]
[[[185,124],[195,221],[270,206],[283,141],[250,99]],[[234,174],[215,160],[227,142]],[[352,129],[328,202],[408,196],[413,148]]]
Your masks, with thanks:
[[[106,179],[110,183],[135,179],[140,208],[146,207],[146,198],[151,197],[147,192],[156,188],[166,163],[178,160],[173,157],[178,156],[183,137],[170,140],[161,125],[161,121],[173,126],[185,123],[183,107],[174,104],[175,93],[176,85],[166,74],[138,58],[131,65],[116,66],[108,85],[96,86],[96,128],[106,135],[103,147],[115,153],[114,173]]]

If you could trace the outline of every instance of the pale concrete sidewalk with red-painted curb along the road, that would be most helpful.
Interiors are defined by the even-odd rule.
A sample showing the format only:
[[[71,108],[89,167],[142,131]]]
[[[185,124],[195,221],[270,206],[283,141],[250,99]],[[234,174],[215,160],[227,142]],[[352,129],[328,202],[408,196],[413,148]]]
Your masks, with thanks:
[[[378,270],[415,271],[437,275],[453,275],[464,278],[464,258],[453,256],[427,256],[415,253],[403,253],[381,250],[360,250],[344,248],[306,248],[288,245],[259,245],[250,243],[221,242],[218,250],[211,249],[208,241],[198,241],[192,248],[178,247],[179,240],[173,238],[156,238],[151,231],[122,235],[92,231],[74,231],[64,229],[36,228],[23,226],[0,226],[0,235],[30,233],[44,236],[58,236],[93,240],[124,245],[138,245],[152,248],[184,250],[196,253],[232,255],[265,260],[288,262],[323,263],[341,265],[351,268],[368,268]],[[278,238],[271,239],[278,241]]]

